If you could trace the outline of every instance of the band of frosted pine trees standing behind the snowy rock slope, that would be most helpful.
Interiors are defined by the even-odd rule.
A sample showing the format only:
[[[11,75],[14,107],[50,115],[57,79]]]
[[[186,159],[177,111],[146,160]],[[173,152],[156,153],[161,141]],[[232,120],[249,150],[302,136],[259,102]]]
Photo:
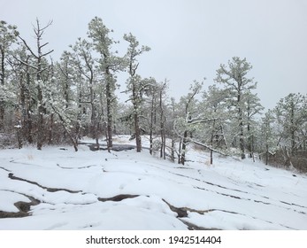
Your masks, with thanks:
[[[169,97],[167,80],[138,74],[139,58],[150,47],[131,33],[123,35],[127,51],[120,55],[113,30],[95,17],[85,38],[54,61],[44,39],[50,25],[36,19],[31,46],[18,27],[0,21],[0,148],[42,150],[70,143],[78,151],[88,136],[97,150],[104,138],[111,151],[112,137],[125,134],[135,140],[137,152],[146,136],[150,154],[182,165],[188,143],[195,143],[211,152],[211,163],[217,152],[307,172],[307,96],[289,93],[265,110],[246,58],[221,64],[208,89],[205,79],[187,82],[189,91],[176,100]],[[126,81],[119,81],[119,74],[126,74]],[[126,89],[119,92],[123,83]]]

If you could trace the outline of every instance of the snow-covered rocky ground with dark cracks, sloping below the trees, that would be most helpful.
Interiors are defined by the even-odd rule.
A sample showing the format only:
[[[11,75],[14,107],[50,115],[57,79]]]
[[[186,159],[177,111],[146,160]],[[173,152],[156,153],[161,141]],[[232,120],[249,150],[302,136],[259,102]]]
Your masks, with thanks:
[[[307,229],[305,174],[218,155],[209,166],[192,147],[188,160],[86,144],[1,150],[0,229]]]

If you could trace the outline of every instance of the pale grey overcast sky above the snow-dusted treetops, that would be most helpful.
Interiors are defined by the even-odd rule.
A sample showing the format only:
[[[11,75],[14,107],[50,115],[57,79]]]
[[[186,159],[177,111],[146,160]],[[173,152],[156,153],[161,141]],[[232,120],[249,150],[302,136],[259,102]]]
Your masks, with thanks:
[[[307,93],[305,0],[0,0],[0,19],[28,41],[34,41],[36,17],[42,24],[53,20],[45,41],[55,59],[86,37],[95,16],[117,40],[131,32],[150,46],[138,73],[167,78],[173,97],[185,95],[194,80],[212,84],[219,65],[234,56],[253,66],[248,76],[258,82],[266,108],[289,93]]]

